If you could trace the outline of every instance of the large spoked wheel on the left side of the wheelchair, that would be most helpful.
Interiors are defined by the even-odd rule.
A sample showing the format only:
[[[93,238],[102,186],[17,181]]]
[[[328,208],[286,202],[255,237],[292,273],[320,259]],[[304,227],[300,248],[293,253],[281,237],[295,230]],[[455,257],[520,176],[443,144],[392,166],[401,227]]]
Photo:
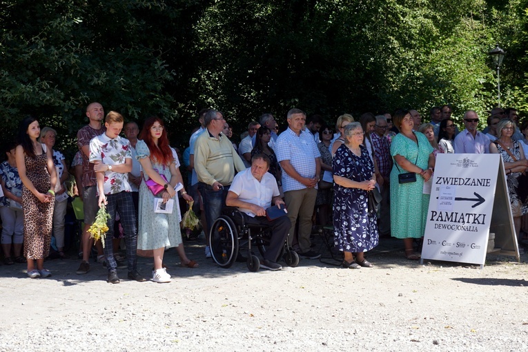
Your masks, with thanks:
[[[227,216],[219,216],[213,222],[209,236],[211,256],[220,267],[233,265],[238,254],[238,234],[235,223]]]

